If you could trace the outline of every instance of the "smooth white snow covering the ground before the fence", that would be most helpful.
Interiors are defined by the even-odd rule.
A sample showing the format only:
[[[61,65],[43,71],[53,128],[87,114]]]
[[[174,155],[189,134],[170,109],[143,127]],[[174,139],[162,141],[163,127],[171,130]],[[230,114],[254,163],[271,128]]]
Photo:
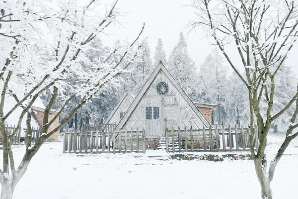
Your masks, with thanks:
[[[282,137],[270,136],[269,153]],[[15,148],[20,161],[23,147]],[[202,154],[202,153],[200,153]],[[62,143],[46,143],[17,185],[14,199],[257,199],[259,185],[250,160],[210,162],[157,160],[146,154],[63,154]],[[271,156],[272,157],[272,156]],[[1,157],[0,157],[1,158]],[[298,140],[280,161],[272,183],[275,199],[297,198]]]

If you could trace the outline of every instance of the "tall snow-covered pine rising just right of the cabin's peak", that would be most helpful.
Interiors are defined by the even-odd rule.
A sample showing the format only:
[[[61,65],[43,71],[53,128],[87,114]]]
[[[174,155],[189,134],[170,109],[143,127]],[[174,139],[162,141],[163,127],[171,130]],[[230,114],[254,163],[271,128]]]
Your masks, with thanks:
[[[179,41],[170,53],[167,63],[168,70],[182,89],[191,98],[195,96],[195,62],[189,57],[185,37],[180,32]]]

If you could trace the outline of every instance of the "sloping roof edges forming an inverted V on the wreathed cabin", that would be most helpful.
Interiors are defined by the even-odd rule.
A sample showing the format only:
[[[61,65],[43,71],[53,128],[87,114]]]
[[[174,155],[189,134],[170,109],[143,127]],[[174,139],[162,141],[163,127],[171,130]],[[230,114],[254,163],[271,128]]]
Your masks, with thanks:
[[[150,74],[148,80],[142,87],[141,91],[135,98],[135,100],[132,102],[132,104],[129,106],[128,110],[126,111],[125,115],[120,120],[119,124],[117,125],[117,129],[122,129],[134,111],[136,110],[138,104],[142,101],[142,99],[146,96],[147,92],[149,91],[150,86],[154,82],[157,75],[160,73],[160,71],[163,71],[165,76],[168,78],[168,80],[174,85],[174,87],[177,89],[177,91],[180,93],[180,95],[184,98],[184,100],[189,104],[189,106],[193,109],[193,111],[197,114],[197,116],[200,118],[200,120],[203,122],[205,127],[209,128],[211,124],[206,119],[206,117],[202,114],[202,112],[198,109],[198,107],[194,104],[194,102],[189,98],[189,96],[183,91],[181,86],[177,83],[177,81],[174,79],[174,77],[170,74],[170,72],[166,69],[166,67],[163,65],[162,61],[159,61],[153,72]]]

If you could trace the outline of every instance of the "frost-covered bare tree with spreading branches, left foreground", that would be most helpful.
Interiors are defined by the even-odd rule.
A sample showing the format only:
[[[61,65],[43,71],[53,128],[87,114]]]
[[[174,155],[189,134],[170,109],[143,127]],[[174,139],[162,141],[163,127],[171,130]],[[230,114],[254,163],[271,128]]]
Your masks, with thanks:
[[[63,127],[88,100],[107,86],[119,82],[118,77],[136,60],[138,49],[143,44],[139,40],[145,24],[133,42],[118,45],[101,64],[92,65],[83,52],[90,48],[88,43],[93,38],[103,36],[110,24],[118,23],[117,18],[121,14],[116,7],[118,0],[109,6],[97,0],[90,0],[86,5],[79,5],[81,2],[73,0],[54,2],[59,6],[56,7],[50,1],[44,2],[44,5],[26,0],[0,2],[0,133],[3,145],[1,199],[12,198],[15,186],[47,138]],[[104,15],[98,16],[97,11]],[[45,52],[50,52],[51,60],[44,59]],[[121,56],[111,61],[115,52]],[[88,68],[82,67],[80,62],[86,62]],[[50,91],[51,97],[44,111],[41,136],[31,146],[31,106],[45,91]],[[13,98],[15,104],[4,111],[7,98]],[[50,110],[58,98],[63,100],[63,105],[50,119]],[[74,98],[80,99],[79,103],[59,126],[50,130],[50,126]],[[5,121],[19,107],[22,111],[18,115],[16,127],[13,132],[7,132]],[[17,165],[11,142],[25,115],[25,154]]]

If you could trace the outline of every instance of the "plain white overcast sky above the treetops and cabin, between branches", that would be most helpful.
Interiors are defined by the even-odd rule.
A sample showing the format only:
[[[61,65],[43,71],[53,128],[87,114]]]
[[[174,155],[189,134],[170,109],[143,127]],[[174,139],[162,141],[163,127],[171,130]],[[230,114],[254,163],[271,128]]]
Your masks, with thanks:
[[[126,16],[121,17],[124,27],[110,27],[110,33],[113,35],[108,37],[104,44],[110,45],[108,42],[113,42],[115,39],[132,41],[145,22],[143,37],[149,36],[152,60],[158,38],[162,39],[163,49],[168,58],[179,39],[179,32],[183,31],[186,34],[185,25],[194,19],[194,10],[185,6],[190,3],[191,0],[119,0],[117,7],[121,11],[128,12]],[[206,37],[206,33],[201,29],[185,36],[188,53],[199,68],[213,49],[211,38]],[[298,74],[297,55],[298,46],[293,48],[286,62],[293,67],[296,74]],[[231,54],[231,56],[237,58],[237,55]]]

